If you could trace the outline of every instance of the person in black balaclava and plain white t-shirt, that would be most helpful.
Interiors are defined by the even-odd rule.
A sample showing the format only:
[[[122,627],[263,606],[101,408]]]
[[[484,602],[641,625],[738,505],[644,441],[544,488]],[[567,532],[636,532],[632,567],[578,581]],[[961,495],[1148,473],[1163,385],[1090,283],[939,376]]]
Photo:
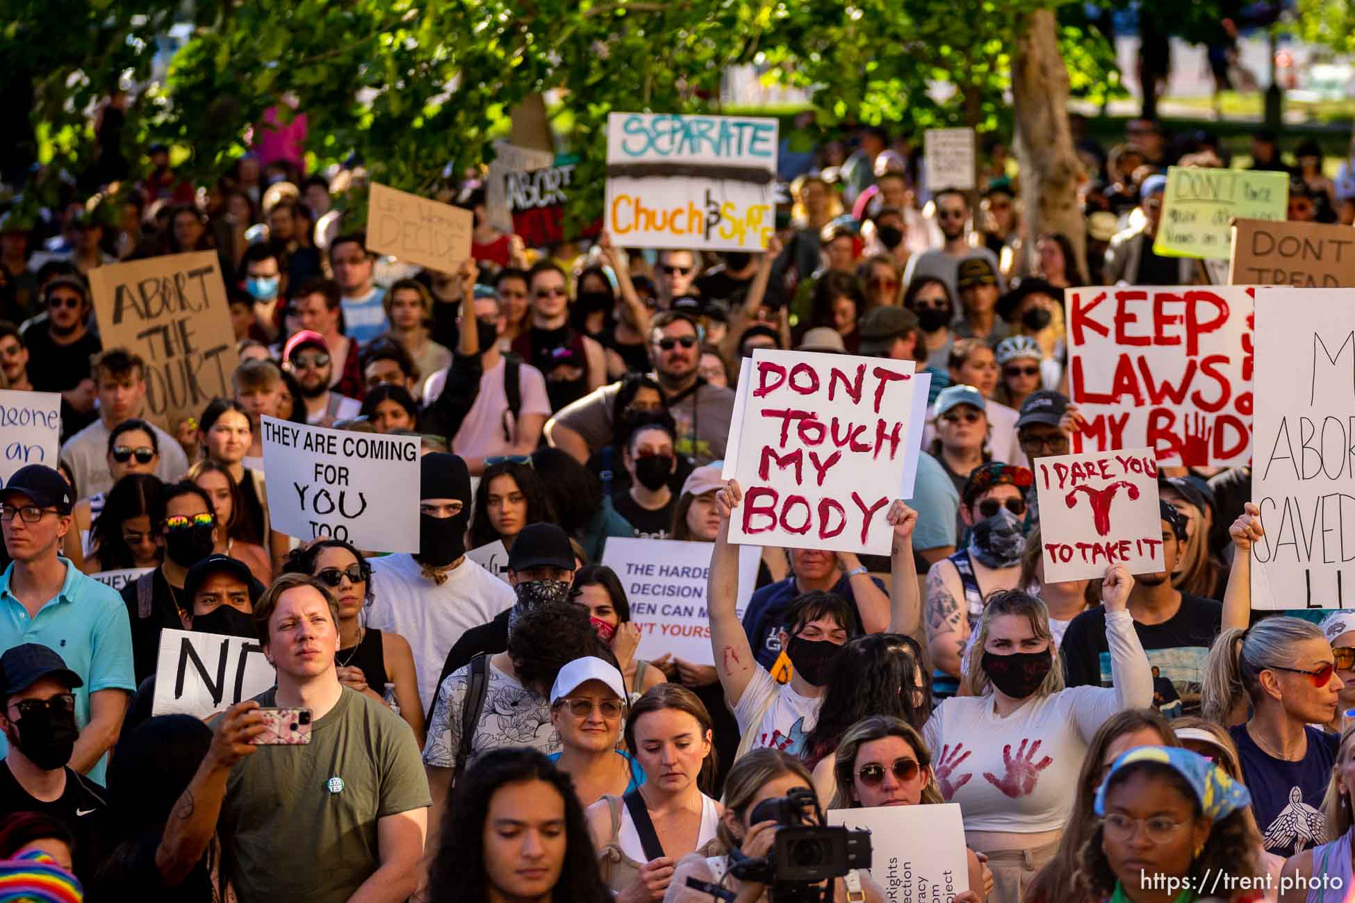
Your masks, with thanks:
[[[379,589],[367,612],[367,625],[409,639],[419,700],[427,712],[449,650],[472,627],[509,608],[516,596],[512,588],[466,558],[470,521],[466,462],[446,452],[424,455],[419,462],[419,552],[371,559],[371,575]]]

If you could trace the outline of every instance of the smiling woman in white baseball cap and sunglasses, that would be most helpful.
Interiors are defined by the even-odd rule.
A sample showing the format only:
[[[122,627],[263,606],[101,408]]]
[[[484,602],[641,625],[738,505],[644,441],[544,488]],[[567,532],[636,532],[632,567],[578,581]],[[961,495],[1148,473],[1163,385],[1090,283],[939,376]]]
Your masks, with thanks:
[[[626,699],[617,666],[592,655],[561,667],[550,688],[550,723],[564,749],[547,758],[573,780],[584,808],[645,783],[645,770],[618,749]]]

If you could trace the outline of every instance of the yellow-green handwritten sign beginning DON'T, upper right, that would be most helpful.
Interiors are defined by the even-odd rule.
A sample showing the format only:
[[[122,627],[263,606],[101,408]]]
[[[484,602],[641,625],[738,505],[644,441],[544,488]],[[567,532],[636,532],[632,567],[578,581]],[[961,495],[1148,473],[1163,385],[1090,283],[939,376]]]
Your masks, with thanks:
[[[1289,173],[1169,167],[1153,250],[1228,260],[1234,218],[1283,219],[1287,214]]]

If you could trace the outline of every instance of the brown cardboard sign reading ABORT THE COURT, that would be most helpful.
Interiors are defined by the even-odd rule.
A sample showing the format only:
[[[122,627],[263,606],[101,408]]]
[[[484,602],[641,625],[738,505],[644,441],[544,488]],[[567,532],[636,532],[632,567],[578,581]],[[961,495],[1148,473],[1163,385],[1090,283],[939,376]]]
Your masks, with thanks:
[[[232,398],[234,329],[214,250],[89,271],[99,337],[146,361],[146,420],[171,433],[213,398]]]

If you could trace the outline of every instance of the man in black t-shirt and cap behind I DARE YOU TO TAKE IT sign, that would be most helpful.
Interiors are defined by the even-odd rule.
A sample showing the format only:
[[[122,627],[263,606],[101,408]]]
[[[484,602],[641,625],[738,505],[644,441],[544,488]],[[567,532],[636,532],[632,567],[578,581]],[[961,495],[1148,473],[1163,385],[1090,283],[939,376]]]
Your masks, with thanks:
[[[1184,715],[1199,713],[1201,676],[1209,647],[1222,625],[1224,605],[1191,596],[1172,586],[1172,570],[1186,551],[1186,517],[1169,502],[1160,502],[1163,517],[1163,570],[1134,574],[1129,613],[1149,665],[1172,681],[1184,703]],[[1106,642],[1106,609],[1089,608],[1068,624],[1060,643],[1064,677],[1069,686],[1110,686],[1110,646]]]

